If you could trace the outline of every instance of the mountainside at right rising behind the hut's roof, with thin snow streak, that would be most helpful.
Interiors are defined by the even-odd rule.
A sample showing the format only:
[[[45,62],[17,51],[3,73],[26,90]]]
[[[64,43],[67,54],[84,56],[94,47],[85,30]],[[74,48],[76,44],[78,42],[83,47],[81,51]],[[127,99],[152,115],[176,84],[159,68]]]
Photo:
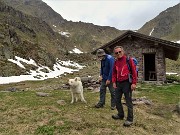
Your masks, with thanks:
[[[180,40],[180,4],[166,9],[154,19],[145,23],[138,32],[169,40]]]

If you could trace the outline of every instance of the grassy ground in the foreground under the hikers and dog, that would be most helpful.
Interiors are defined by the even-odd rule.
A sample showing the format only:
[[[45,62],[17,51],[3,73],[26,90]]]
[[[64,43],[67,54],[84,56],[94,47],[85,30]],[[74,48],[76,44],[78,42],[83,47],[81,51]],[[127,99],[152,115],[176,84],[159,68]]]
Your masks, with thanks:
[[[57,82],[57,79],[1,85],[1,91],[8,87],[19,87],[25,91],[0,91],[0,134],[176,135],[180,133],[180,118],[173,112],[179,102],[180,85],[139,85],[133,97],[146,96],[152,100],[153,105],[135,105],[134,125],[125,128],[122,126],[124,121],[115,121],[111,118],[111,115],[117,112],[110,110],[109,92],[105,107],[96,109],[94,105],[99,100],[99,93],[85,89],[87,104],[82,102],[70,104],[71,94],[67,89],[39,90],[38,92],[50,94],[49,97],[39,97],[36,96],[36,90],[27,87],[41,86],[45,83],[47,86],[54,81]],[[63,103],[57,104],[58,100],[63,100]],[[127,112],[126,106],[123,106]]]

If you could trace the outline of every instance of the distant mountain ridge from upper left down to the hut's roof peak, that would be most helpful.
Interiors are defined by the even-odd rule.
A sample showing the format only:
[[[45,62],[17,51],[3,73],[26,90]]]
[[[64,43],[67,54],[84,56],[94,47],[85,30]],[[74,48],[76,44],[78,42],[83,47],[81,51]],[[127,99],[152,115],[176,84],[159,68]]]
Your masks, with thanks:
[[[60,34],[68,33],[68,40],[70,42],[66,46],[68,50],[76,46],[83,52],[90,52],[123,32],[109,26],[103,27],[92,23],[67,21],[42,0],[3,1],[16,10],[44,20],[55,32]]]

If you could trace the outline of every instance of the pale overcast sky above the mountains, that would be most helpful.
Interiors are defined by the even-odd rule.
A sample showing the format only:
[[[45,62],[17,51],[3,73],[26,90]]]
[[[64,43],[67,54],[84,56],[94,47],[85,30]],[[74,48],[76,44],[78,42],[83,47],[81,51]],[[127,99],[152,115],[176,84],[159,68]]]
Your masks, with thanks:
[[[68,21],[137,30],[180,0],[43,0]]]

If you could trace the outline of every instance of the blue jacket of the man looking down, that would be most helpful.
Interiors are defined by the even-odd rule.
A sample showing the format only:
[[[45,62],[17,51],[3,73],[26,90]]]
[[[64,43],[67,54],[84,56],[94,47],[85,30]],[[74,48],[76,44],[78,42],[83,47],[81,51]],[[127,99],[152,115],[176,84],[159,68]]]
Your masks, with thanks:
[[[103,80],[112,80],[112,70],[114,65],[114,57],[106,54],[105,58],[101,60],[101,70],[100,75]]]

